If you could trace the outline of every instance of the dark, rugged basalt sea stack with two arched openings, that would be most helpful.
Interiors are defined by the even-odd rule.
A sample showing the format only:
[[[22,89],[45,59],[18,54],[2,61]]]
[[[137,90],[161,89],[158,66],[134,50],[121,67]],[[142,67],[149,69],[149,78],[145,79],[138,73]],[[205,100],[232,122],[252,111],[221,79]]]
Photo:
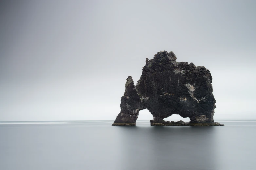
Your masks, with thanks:
[[[113,125],[136,125],[139,110],[148,109],[153,126],[222,126],[213,120],[216,100],[210,71],[204,66],[176,62],[172,51],[161,51],[154,59],[146,59],[136,87],[131,76],[126,80],[121,111]],[[190,122],[163,120],[173,114]]]

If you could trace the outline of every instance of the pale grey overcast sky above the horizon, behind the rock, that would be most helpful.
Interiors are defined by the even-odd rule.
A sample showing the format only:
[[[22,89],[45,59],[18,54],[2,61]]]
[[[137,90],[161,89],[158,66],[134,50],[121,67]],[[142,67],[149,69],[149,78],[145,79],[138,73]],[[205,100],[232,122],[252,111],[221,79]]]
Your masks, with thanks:
[[[256,119],[256,1],[0,1],[0,121],[115,120],[127,76],[174,51],[214,119]],[[150,120],[148,110],[138,120]],[[180,119],[171,116],[170,119]]]

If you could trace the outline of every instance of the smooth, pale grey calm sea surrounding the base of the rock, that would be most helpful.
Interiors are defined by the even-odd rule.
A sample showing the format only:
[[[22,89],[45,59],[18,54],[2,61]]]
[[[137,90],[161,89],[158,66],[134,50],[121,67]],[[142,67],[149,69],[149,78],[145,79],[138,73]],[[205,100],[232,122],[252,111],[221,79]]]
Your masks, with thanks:
[[[219,127],[112,122],[0,122],[0,169],[256,169],[256,120],[218,120]]]

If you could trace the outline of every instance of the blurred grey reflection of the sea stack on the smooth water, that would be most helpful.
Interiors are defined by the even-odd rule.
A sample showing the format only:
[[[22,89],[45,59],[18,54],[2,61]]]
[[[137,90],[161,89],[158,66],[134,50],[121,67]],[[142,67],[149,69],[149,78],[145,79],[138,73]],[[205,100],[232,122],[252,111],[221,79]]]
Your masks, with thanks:
[[[216,127],[118,128],[122,169],[215,169]]]

